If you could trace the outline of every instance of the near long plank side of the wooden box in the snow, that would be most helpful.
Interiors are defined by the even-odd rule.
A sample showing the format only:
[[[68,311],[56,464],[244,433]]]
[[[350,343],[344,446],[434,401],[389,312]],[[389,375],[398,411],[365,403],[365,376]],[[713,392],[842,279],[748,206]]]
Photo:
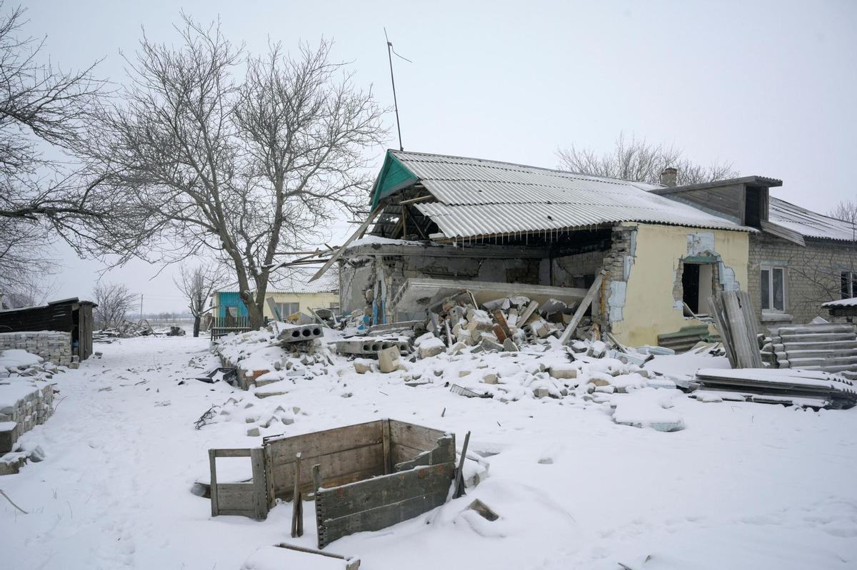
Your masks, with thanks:
[[[394,525],[443,504],[453,470],[452,462],[423,466],[320,490],[315,502],[321,519],[319,547],[354,532]]]

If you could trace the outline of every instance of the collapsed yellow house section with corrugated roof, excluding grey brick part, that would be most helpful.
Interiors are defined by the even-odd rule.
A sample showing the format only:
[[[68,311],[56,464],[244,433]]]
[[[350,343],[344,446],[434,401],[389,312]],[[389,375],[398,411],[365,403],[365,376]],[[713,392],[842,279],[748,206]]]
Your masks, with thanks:
[[[661,188],[388,151],[363,231],[372,229],[339,258],[343,309],[369,307],[370,324],[423,318],[430,302],[474,282],[573,308],[603,271],[590,317],[620,342],[708,331],[710,294],[746,288],[755,230]]]

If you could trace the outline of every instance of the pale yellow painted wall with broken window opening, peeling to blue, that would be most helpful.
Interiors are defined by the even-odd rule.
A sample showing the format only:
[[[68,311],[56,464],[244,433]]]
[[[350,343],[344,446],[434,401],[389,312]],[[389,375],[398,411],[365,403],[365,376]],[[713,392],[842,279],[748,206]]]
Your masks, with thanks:
[[[613,334],[623,344],[638,347],[656,345],[657,335],[682,327],[704,324],[685,318],[675,308],[673,286],[680,259],[689,255],[688,235],[714,234],[714,253],[731,268],[741,289],[747,288],[749,240],[746,232],[718,229],[682,228],[644,223],[636,226],[636,258],[628,276],[622,320],[612,323]],[[605,290],[609,296],[609,289]]]

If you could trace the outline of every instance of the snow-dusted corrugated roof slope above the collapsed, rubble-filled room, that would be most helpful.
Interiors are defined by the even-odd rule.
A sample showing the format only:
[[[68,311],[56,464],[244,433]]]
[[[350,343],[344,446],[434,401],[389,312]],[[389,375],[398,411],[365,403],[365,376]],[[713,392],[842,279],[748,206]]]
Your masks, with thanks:
[[[651,222],[752,231],[648,192],[656,184],[478,158],[389,151],[438,200],[415,204],[447,238]]]

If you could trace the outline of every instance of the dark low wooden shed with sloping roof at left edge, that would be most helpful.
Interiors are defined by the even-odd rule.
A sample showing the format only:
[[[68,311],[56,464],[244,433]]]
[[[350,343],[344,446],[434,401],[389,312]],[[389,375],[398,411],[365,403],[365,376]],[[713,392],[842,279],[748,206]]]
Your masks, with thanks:
[[[93,307],[96,306],[92,301],[72,297],[45,306],[0,311],[0,332],[67,332],[71,335],[71,353],[85,360],[93,353]]]

